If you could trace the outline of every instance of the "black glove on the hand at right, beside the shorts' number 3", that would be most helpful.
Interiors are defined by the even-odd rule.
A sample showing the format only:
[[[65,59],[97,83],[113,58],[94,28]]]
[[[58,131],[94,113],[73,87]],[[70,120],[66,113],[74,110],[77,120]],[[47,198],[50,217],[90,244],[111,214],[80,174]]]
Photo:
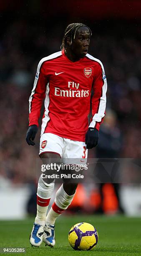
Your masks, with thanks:
[[[96,128],[89,127],[86,133],[85,144],[86,148],[90,149],[98,145],[99,131]]]

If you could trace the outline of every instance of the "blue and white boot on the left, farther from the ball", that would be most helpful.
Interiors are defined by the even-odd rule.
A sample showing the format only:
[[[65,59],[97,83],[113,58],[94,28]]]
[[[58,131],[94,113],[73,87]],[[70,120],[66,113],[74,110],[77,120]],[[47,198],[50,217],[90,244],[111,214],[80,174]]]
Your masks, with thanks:
[[[32,246],[39,247],[43,242],[44,226],[34,223],[32,232],[30,234],[30,243]]]

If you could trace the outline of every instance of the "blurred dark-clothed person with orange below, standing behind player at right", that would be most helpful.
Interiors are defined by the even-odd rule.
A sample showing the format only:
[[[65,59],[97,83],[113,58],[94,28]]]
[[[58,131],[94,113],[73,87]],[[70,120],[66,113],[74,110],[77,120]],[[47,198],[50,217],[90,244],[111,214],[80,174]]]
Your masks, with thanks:
[[[101,125],[99,144],[96,147],[96,158],[99,160],[94,172],[99,180],[103,182],[98,184],[101,198],[99,205],[96,207],[96,212],[123,213],[119,195],[120,184],[116,175],[118,163],[114,160],[119,158],[121,147],[122,137],[118,128],[116,113],[107,109],[104,123]],[[107,159],[107,161],[104,163],[102,159]],[[112,171],[110,170],[111,166]]]

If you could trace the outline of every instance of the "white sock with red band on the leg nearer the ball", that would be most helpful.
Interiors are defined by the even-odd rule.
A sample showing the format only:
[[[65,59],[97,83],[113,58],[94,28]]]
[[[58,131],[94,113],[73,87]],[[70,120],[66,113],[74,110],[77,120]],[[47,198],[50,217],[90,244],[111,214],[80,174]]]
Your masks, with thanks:
[[[75,195],[75,194],[74,194]],[[46,224],[54,224],[56,218],[64,212],[71,205],[74,195],[67,195],[63,189],[63,184],[56,192],[55,202],[53,203],[48,215],[46,217]]]

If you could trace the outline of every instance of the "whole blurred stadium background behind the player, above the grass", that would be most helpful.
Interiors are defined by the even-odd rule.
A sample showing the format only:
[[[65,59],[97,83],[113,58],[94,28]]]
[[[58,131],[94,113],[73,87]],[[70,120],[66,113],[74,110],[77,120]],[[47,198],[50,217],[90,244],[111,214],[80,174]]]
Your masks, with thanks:
[[[118,138],[116,146],[101,145],[90,156],[99,157],[102,151],[109,152],[106,157],[114,152],[112,157],[141,158],[141,2],[5,0],[0,3],[0,20],[0,218],[20,219],[27,215],[37,185],[40,128],[36,145],[29,147],[28,98],[39,60],[60,50],[69,23],[86,23],[92,30],[89,53],[103,62],[108,81],[105,128],[110,125]],[[132,173],[126,174],[128,184],[118,187],[119,197],[127,215],[141,215],[141,185],[133,183]],[[113,187],[108,184],[103,191],[108,209],[102,210],[117,213]],[[35,201],[30,200],[32,212]],[[73,206],[79,212],[95,213],[101,204],[100,186],[80,186],[76,201],[79,204]]]

